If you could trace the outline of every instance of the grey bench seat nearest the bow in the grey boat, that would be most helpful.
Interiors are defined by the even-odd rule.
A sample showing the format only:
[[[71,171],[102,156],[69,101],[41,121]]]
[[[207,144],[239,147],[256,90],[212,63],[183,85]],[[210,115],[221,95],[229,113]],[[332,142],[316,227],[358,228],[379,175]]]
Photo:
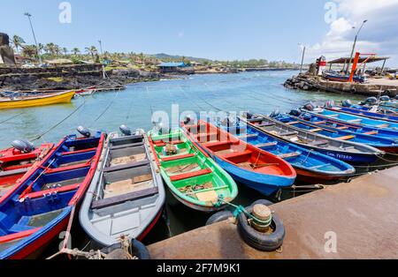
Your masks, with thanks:
[[[127,201],[134,201],[142,198],[149,198],[151,196],[159,193],[159,189],[157,187],[153,187],[147,190],[142,191],[134,191],[130,193],[126,193],[123,195],[115,196],[112,198],[105,198],[93,201],[91,204],[92,209],[103,209],[110,206],[116,206],[119,204],[123,204]]]

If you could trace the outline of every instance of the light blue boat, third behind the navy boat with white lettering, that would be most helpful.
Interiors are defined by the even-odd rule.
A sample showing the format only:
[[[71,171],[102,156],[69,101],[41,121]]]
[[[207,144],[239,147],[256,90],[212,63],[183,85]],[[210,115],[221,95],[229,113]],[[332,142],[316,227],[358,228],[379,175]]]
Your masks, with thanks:
[[[316,112],[318,115],[326,116],[333,119],[344,121],[348,124],[361,124],[380,129],[398,130],[398,123],[376,120],[364,116],[348,115],[342,112],[337,112],[329,109],[321,109]]]

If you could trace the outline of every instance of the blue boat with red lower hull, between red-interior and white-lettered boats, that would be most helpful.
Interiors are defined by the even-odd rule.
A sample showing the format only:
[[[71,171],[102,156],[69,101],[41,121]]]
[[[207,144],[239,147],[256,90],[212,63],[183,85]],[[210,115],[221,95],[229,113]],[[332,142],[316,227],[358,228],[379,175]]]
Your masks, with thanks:
[[[248,124],[243,117],[239,117],[234,124],[229,126],[218,122],[218,127],[229,131],[238,139],[246,139],[249,145],[279,157],[286,157],[286,161],[295,168],[297,180],[302,183],[335,183],[346,180],[355,173],[355,168],[349,164],[287,143],[282,139],[276,139]]]

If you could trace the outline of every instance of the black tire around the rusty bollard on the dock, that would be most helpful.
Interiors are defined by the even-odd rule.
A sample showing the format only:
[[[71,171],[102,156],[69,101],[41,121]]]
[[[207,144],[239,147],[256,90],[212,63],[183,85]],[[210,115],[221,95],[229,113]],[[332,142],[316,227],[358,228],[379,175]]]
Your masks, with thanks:
[[[253,212],[253,206],[246,208],[248,213]],[[238,232],[245,243],[258,251],[272,252],[282,246],[285,239],[285,227],[278,215],[272,214],[273,233],[270,235],[260,233],[249,225],[248,218],[245,213],[241,213],[238,217]]]

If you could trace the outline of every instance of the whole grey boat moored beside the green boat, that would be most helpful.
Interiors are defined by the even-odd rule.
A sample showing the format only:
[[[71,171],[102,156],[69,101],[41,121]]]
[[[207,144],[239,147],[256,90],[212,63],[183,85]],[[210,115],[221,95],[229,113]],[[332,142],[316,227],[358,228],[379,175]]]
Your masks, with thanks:
[[[124,126],[122,126],[124,127]],[[142,240],[161,217],[165,186],[144,131],[113,132],[80,208],[80,225],[103,246]]]

